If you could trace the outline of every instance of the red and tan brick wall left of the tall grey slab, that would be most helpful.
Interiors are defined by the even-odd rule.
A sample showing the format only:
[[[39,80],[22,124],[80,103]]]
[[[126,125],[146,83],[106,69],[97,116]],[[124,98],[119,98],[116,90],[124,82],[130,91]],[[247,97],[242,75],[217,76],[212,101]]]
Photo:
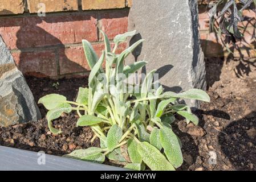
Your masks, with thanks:
[[[37,15],[39,2],[46,5],[45,17]],[[100,55],[99,30],[109,39],[126,32],[129,6],[125,0],[1,0],[0,34],[25,75],[86,75],[82,39]]]

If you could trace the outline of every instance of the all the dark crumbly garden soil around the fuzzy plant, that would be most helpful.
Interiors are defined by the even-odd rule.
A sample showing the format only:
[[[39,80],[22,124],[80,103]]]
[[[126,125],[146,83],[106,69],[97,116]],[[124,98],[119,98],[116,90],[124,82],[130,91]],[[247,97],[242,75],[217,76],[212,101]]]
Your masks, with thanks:
[[[256,170],[256,69],[255,61],[206,60],[210,103],[202,103],[196,114],[199,126],[186,125],[182,119],[173,129],[182,142],[184,164],[180,170]],[[56,80],[27,77],[35,100],[49,93],[63,94],[73,101],[86,78]],[[39,105],[44,116],[46,110]],[[9,127],[0,127],[0,145],[24,150],[67,154],[75,149],[99,146],[91,143],[89,127],[75,127],[78,116],[63,115],[54,121],[62,129],[52,135],[46,119]]]

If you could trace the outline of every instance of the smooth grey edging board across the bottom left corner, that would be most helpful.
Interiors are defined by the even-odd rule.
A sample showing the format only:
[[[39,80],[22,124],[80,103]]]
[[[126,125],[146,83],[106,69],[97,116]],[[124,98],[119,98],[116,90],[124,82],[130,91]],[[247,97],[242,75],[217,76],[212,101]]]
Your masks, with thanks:
[[[124,171],[103,164],[84,162],[38,152],[0,146],[0,171]]]

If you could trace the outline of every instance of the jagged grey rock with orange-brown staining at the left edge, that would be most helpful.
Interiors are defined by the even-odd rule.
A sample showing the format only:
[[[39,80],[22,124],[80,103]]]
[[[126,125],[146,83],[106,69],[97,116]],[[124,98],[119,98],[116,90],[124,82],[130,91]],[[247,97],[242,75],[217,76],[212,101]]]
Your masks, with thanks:
[[[31,90],[0,36],[0,126],[40,118]]]

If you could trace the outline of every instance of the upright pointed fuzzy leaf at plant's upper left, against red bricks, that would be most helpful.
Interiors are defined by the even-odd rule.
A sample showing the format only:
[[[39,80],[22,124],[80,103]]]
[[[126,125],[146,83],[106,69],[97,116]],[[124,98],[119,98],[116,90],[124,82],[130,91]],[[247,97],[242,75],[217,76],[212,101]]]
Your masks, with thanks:
[[[90,68],[94,68],[94,65],[97,63],[97,60],[99,59],[97,57],[97,54],[94,51],[94,48],[92,47],[91,43],[87,40],[82,40],[84,53],[86,55],[86,60],[88,62],[88,65]]]

